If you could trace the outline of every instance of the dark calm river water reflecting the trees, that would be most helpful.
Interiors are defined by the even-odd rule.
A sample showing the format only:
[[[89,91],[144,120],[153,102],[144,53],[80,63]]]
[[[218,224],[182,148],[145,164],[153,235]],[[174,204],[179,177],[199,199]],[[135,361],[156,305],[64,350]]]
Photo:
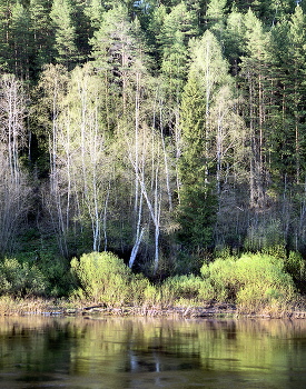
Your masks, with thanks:
[[[306,321],[0,318],[0,388],[306,388]]]

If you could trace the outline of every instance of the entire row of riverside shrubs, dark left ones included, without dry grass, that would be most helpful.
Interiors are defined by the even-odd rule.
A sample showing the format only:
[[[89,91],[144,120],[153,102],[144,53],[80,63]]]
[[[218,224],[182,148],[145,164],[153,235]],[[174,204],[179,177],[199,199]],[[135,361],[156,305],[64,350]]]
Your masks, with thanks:
[[[42,268],[17,259],[0,263],[0,293],[56,296],[73,288],[75,298],[106,306],[201,305],[208,300],[236,303],[243,310],[259,310],[294,301],[296,286],[305,278],[300,255],[245,253],[240,258],[219,252],[204,263],[200,276],[175,276],[159,285],[134,275],[122,259],[110,252],[91,252],[71,260],[70,271],[59,261],[45,260]],[[49,266],[47,266],[49,263]]]

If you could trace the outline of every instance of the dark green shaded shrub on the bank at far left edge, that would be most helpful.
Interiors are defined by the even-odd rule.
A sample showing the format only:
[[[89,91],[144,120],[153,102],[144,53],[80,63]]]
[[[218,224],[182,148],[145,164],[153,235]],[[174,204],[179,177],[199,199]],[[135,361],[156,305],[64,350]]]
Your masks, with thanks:
[[[0,265],[0,292],[2,295],[45,295],[48,281],[33,265],[19,263],[17,259],[4,259]]]

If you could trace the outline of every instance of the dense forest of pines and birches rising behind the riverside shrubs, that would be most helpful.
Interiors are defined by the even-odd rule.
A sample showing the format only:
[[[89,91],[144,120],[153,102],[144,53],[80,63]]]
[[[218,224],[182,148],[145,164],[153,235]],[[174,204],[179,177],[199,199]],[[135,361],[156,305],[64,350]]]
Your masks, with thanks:
[[[0,0],[0,253],[306,255],[306,2]]]

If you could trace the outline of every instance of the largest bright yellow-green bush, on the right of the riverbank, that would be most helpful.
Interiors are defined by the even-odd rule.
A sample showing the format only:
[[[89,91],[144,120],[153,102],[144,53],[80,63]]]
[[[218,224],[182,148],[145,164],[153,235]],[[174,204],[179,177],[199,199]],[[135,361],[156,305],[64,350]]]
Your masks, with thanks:
[[[283,303],[295,295],[294,281],[285,271],[284,260],[268,255],[217,259],[203,266],[201,276],[214,288],[218,301],[237,302],[241,308]]]

